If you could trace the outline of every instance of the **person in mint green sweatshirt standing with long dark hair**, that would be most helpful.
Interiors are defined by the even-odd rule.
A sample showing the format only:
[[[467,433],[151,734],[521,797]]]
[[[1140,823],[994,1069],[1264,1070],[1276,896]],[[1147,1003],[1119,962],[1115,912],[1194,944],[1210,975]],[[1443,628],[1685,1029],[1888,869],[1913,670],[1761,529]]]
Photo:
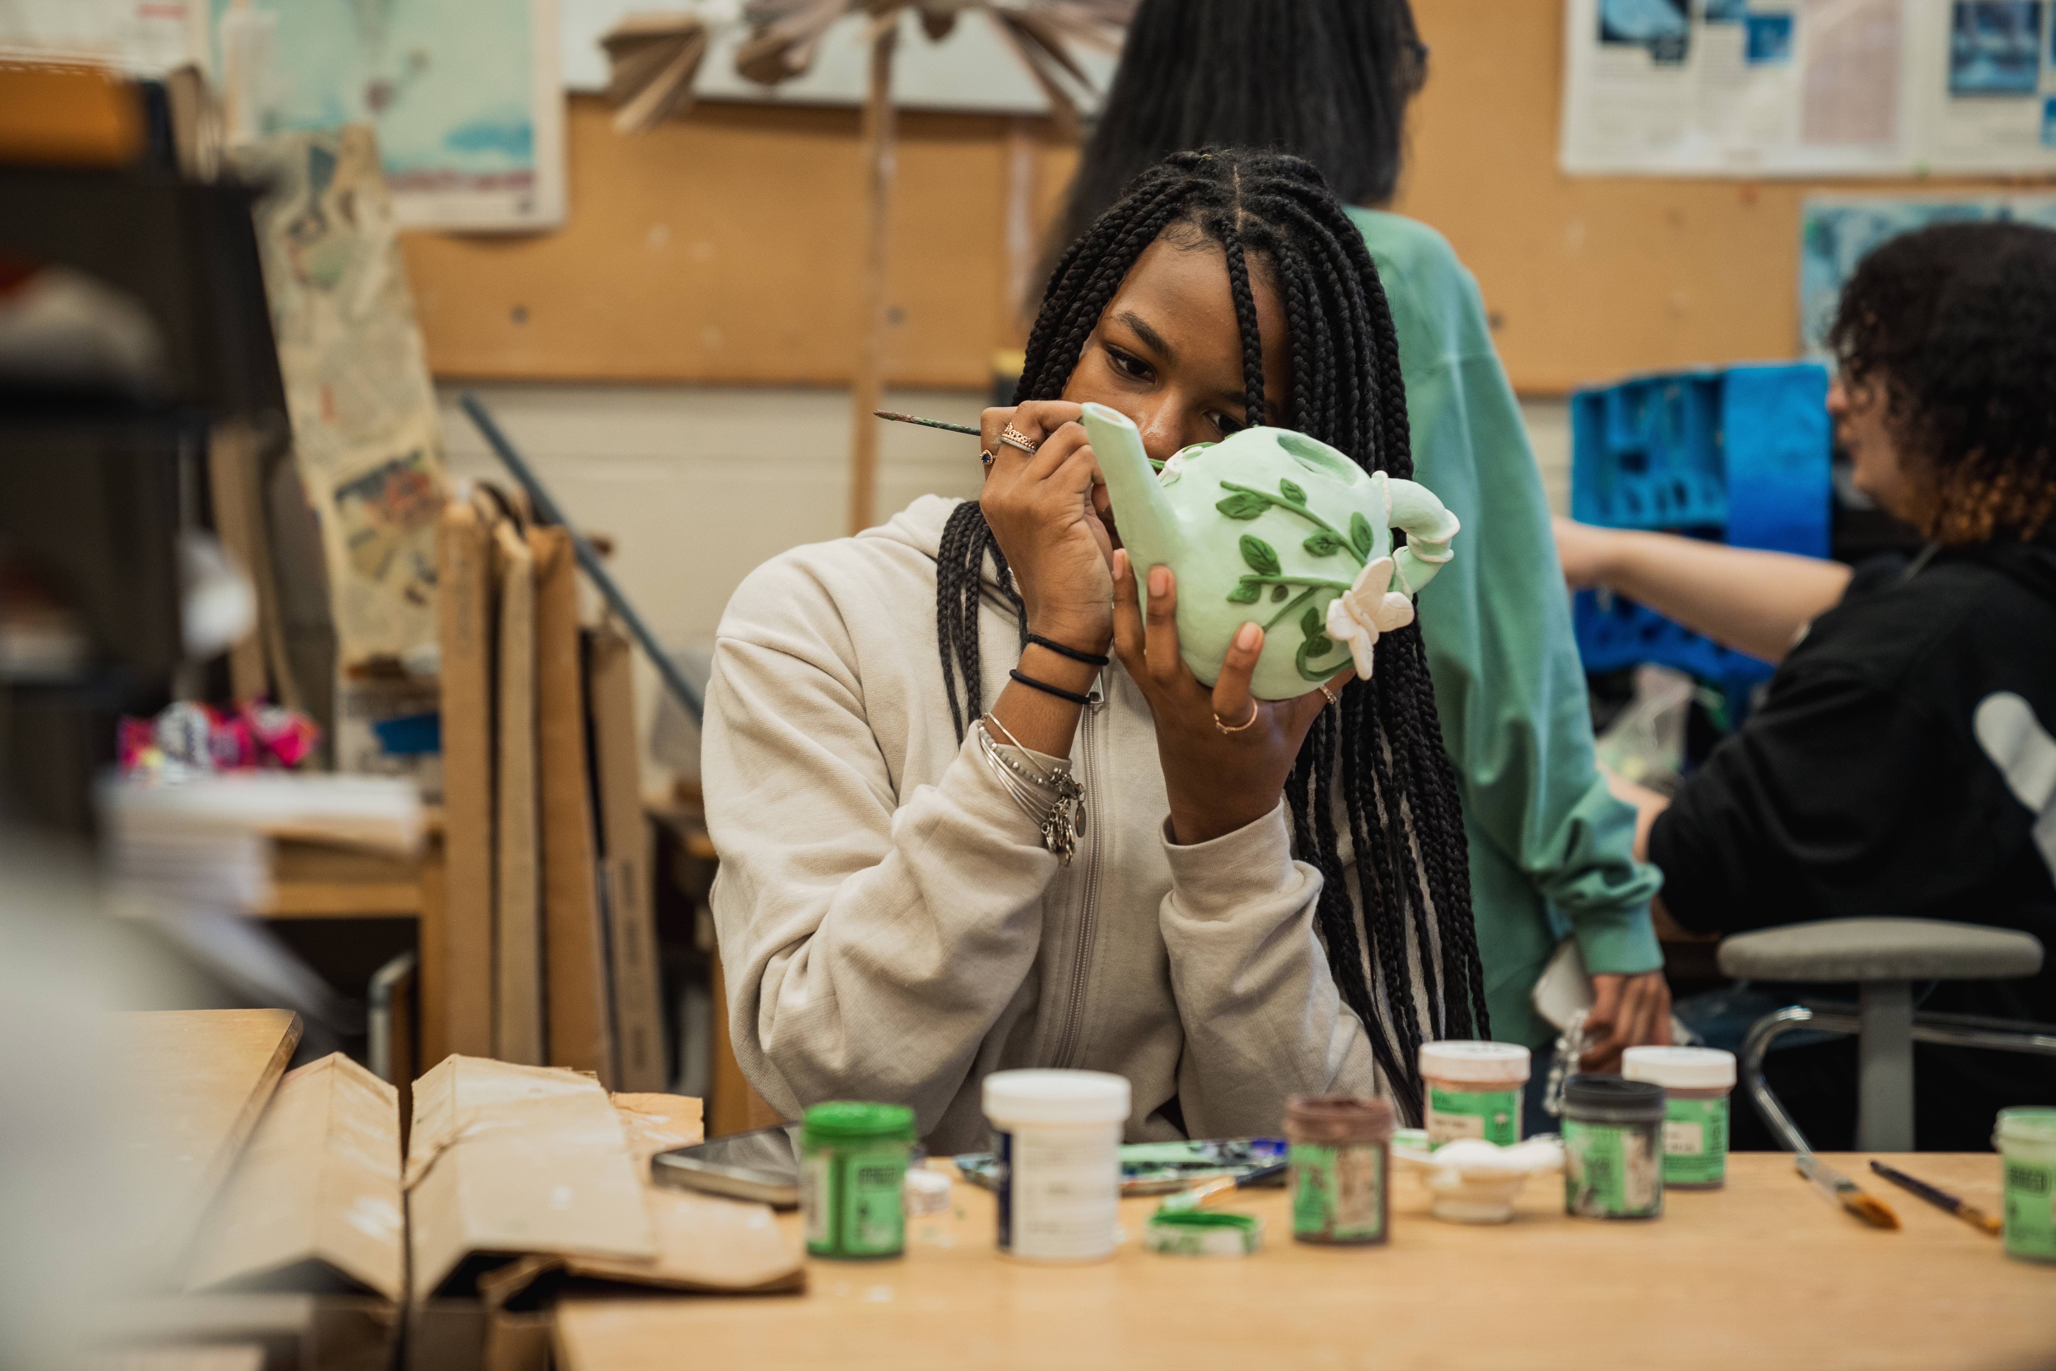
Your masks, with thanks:
[[[1398,333],[1415,479],[1464,524],[1421,592],[1443,744],[1470,839],[1493,1036],[1544,1048],[1530,993],[1565,937],[1593,978],[1587,1069],[1669,1042],[1661,876],[1593,761],[1585,676],[1548,504],[1478,284],[1427,224],[1369,206],[1398,183],[1427,47],[1406,0],[1143,0],[1121,72],[1051,232],[1071,243],[1162,156],[1271,148],[1314,162],[1378,263]]]

